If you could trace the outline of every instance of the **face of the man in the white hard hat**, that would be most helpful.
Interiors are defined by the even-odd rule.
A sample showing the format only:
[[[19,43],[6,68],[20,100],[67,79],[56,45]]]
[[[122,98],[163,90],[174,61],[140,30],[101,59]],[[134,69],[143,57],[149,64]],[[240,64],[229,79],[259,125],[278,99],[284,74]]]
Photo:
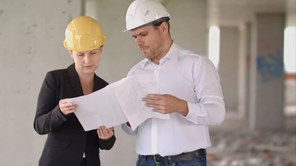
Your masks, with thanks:
[[[131,31],[132,36],[136,39],[136,45],[148,59],[153,59],[159,55],[162,47],[162,35],[158,27],[145,26]]]

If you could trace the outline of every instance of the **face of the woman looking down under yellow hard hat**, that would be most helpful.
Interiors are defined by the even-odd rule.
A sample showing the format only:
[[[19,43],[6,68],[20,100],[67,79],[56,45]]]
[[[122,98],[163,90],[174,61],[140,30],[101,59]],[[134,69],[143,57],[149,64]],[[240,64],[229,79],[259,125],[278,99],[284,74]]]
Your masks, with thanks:
[[[102,51],[103,46],[89,51],[70,51],[70,55],[74,59],[77,72],[82,74],[94,73],[100,65],[100,56]]]

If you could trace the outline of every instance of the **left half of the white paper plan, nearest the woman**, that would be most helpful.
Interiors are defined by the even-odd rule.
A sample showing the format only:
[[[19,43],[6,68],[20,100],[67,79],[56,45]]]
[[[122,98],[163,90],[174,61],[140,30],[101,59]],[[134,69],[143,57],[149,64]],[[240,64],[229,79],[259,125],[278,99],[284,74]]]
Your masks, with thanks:
[[[66,100],[78,105],[74,114],[85,131],[98,129],[101,125],[111,128],[127,121],[108,86],[95,93]]]

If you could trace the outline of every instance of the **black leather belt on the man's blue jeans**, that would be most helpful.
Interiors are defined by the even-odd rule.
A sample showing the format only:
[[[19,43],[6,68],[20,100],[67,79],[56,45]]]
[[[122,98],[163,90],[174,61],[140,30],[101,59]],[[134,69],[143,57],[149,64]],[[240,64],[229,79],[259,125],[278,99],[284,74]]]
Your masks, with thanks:
[[[205,149],[197,149],[192,152],[182,153],[180,155],[170,156],[172,163],[185,162],[195,159],[198,156],[206,155]],[[148,155],[147,159],[154,160],[155,163],[168,164],[168,156]]]

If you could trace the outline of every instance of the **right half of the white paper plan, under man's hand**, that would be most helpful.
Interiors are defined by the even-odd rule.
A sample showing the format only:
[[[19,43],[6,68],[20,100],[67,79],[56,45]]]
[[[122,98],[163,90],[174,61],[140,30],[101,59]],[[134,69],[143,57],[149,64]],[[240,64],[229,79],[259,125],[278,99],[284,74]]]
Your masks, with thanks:
[[[145,105],[146,102],[142,101],[142,98],[149,93],[158,94],[158,86],[154,74],[128,77],[114,93],[133,130],[152,117],[160,119],[170,118],[168,114],[154,112],[152,111],[153,108]]]

